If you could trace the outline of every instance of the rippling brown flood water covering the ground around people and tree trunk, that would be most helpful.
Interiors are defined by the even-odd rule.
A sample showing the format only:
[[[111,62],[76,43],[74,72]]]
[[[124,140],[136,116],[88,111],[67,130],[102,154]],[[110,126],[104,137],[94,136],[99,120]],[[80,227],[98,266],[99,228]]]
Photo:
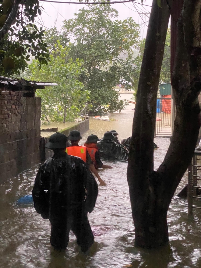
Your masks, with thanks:
[[[102,137],[115,129],[119,139],[131,135],[134,111],[109,115],[111,122],[90,119],[89,134]],[[162,162],[169,146],[169,138],[156,138],[159,149],[154,151],[154,168]],[[0,267],[1,268],[169,268],[201,267],[201,212],[194,218],[187,215],[187,200],[175,196],[168,211],[169,245],[155,250],[134,247],[134,225],[127,185],[127,163],[109,163],[114,168],[100,170],[107,186],[99,186],[96,207],[89,221],[98,245],[89,255],[79,251],[71,233],[65,254],[55,254],[49,243],[50,224],[43,220],[33,205],[19,206],[16,200],[30,194],[37,167],[32,168],[0,187]],[[179,189],[185,185],[185,175]]]

